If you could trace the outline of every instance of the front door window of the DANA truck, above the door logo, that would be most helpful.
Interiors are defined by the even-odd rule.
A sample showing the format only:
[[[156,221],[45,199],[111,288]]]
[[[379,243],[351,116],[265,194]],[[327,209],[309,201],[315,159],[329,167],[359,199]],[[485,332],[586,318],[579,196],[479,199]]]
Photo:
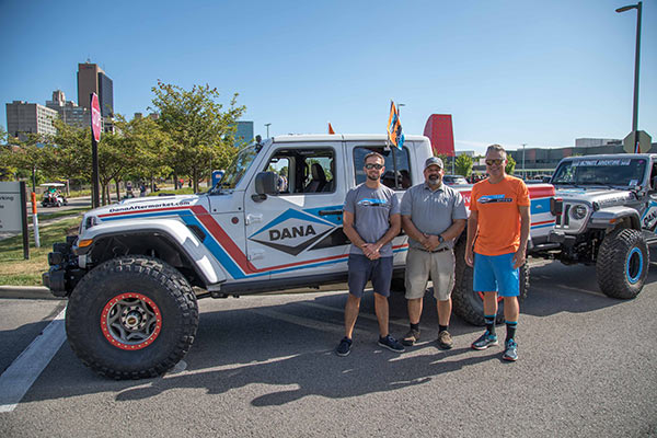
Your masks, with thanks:
[[[335,192],[335,151],[331,148],[278,149],[265,171],[278,174],[281,195]]]

